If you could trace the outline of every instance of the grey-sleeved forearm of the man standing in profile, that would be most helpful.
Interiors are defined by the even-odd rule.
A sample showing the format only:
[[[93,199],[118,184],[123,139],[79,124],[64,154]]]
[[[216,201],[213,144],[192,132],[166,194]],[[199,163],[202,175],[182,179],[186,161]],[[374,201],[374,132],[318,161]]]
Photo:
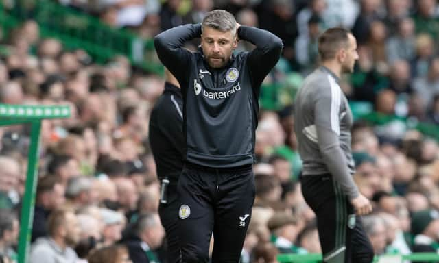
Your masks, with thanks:
[[[346,157],[343,154],[342,149],[337,141],[337,135],[324,128],[317,128],[318,142],[320,152],[322,153],[324,164],[333,178],[342,186],[342,190],[349,199],[358,197],[358,188],[352,178],[352,175],[348,172],[348,164],[346,163]]]

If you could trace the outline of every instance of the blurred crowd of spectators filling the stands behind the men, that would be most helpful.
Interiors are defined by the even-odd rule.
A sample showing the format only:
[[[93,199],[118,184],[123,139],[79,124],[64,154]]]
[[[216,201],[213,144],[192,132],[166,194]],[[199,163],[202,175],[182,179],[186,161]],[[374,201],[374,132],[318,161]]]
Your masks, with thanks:
[[[283,39],[283,58],[264,83],[283,89],[278,107],[261,108],[259,116],[257,192],[241,262],[320,253],[315,216],[300,191],[289,89],[297,89],[316,66],[316,40],[324,29],[342,25],[357,38],[359,61],[342,84],[351,101],[368,101],[386,116],[439,123],[435,0],[60,2],[145,37],[200,23],[209,10],[225,8],[239,23]],[[71,118],[42,124],[30,262],[136,263],[128,252],[141,242],[151,249],[151,261],[165,262],[160,187],[147,140],[162,77],[132,68],[123,56],[94,64],[85,51],[41,39],[34,21],[14,29],[1,44],[1,103],[71,105],[72,110]],[[241,43],[239,49],[252,45]],[[438,142],[397,122],[357,120],[352,132],[353,177],[374,204],[363,221],[375,253],[437,251]],[[29,127],[0,127],[0,137],[0,262],[14,262]]]

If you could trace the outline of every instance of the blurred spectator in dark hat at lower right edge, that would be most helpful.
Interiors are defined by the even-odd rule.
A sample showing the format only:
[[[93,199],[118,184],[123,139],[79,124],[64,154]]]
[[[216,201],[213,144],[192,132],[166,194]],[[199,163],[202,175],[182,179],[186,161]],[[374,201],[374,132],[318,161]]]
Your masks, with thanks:
[[[412,214],[413,252],[435,252],[439,233],[436,210],[421,210]]]

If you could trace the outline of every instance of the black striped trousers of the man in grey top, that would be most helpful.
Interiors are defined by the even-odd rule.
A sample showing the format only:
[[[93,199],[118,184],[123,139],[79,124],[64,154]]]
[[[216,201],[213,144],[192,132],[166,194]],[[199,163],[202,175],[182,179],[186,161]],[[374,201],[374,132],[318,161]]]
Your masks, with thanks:
[[[373,249],[361,219],[331,175],[302,176],[302,194],[316,213],[326,263],[370,263]]]

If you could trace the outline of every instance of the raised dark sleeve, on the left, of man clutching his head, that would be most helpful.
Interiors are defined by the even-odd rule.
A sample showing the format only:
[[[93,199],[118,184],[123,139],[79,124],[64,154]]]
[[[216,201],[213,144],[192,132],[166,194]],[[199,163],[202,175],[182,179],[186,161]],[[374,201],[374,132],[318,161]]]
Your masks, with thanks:
[[[176,76],[180,84],[186,83],[187,65],[191,60],[191,52],[183,49],[182,46],[185,42],[193,38],[200,38],[200,36],[201,24],[196,24],[180,25],[168,29],[154,38],[154,47],[158,58]]]

